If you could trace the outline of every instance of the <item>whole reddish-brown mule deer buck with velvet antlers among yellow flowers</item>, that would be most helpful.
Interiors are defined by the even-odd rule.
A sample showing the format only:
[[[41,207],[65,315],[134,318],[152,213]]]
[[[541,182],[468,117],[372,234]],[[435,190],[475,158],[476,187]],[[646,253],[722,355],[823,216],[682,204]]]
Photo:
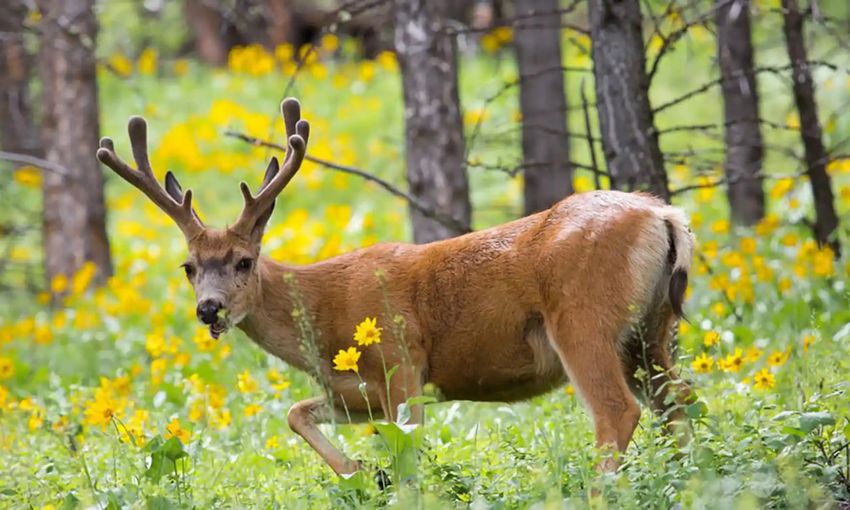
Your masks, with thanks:
[[[304,158],[309,125],[296,100],[285,100],[281,110],[288,137],[283,166],[271,159],[256,196],[240,184],[245,205],[225,229],[201,222],[191,190],[184,193],[171,172],[164,188],[157,183],[141,117],[128,128],[137,170],[115,154],[109,138],[97,157],[183,231],[197,316],[213,337],[236,326],[325,381],[328,396],[296,403],[288,421],[336,473],[353,473],[359,463],[318,425],[370,411],[394,419],[397,406],[426,383],[447,399],[516,401],[569,379],[590,410],[598,446],[619,452],[640,417],[635,395],[647,395],[671,424],[685,420],[690,390],[669,352],[693,250],[682,211],[645,194],[598,191],[454,239],[378,244],[286,265],[261,256],[260,243],[275,199]],[[318,333],[319,366],[311,366],[299,338],[289,285],[297,287]],[[364,349],[358,374],[334,370],[334,353],[353,345],[364,317],[390,324],[388,312],[382,314],[386,302],[403,318],[397,322],[403,340],[384,338]],[[387,384],[389,367],[398,368]],[[639,368],[647,377],[636,375]],[[414,406],[411,419],[421,422],[423,412]],[[612,451],[600,468],[617,465]]]

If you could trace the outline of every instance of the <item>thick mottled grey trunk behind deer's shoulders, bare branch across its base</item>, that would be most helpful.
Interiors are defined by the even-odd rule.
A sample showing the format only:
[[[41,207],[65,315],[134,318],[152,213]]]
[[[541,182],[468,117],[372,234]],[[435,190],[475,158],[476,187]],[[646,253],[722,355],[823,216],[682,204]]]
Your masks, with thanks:
[[[457,85],[457,47],[446,31],[449,0],[397,0],[395,47],[404,89],[410,191],[442,215],[470,224],[469,184]],[[463,233],[411,208],[413,239]]]

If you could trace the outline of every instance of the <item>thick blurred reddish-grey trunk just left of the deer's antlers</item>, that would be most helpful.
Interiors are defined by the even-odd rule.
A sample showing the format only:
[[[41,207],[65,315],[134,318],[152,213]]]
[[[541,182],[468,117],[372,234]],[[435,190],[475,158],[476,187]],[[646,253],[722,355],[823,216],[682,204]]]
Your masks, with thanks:
[[[112,274],[98,145],[94,0],[38,0],[45,157],[67,174],[44,175],[47,276],[71,276],[91,261],[95,282]]]

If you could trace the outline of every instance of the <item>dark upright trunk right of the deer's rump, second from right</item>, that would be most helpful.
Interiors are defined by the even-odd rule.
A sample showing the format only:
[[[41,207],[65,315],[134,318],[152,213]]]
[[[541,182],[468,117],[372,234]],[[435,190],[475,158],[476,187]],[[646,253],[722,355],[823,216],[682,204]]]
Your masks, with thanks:
[[[754,225],[764,217],[759,124],[750,0],[717,0],[717,56],[725,119],[727,196],[732,220]]]

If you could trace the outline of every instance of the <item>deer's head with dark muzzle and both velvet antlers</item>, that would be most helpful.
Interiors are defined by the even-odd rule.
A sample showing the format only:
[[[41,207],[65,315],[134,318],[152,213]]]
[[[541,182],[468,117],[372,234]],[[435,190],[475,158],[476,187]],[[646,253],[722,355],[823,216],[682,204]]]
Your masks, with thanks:
[[[97,150],[97,159],[147,195],[183,231],[189,257],[182,267],[195,290],[198,319],[209,325],[213,338],[250,312],[259,293],[257,262],[266,223],[275,199],[304,159],[310,126],[301,119],[301,106],[290,98],[280,108],[287,136],[283,167],[277,158],[271,159],[256,196],[248,184],[240,183],[245,205],[236,223],[224,229],[203,224],[192,208],[192,190],[184,192],[170,171],[165,174],[165,187],[156,181],[148,157],[147,124],[142,117],[131,117],[127,128],[137,169],[118,157],[110,138],[103,138]]]

